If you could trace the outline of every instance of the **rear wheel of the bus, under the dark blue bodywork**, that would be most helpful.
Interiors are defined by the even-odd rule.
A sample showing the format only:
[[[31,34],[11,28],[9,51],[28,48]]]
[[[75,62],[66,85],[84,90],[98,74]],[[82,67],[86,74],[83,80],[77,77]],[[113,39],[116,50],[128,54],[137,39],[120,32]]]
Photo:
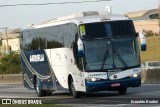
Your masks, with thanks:
[[[38,97],[42,97],[45,95],[45,91],[42,90],[42,85],[40,83],[40,79],[36,78],[36,82],[35,82],[35,90],[36,90],[36,93],[38,95]]]

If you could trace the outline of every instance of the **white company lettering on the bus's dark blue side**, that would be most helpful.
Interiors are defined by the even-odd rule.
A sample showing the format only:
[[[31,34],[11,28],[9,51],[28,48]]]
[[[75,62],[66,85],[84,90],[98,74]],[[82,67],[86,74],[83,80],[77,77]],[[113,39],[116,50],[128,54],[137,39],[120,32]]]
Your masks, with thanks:
[[[30,62],[43,62],[44,54],[30,55]]]

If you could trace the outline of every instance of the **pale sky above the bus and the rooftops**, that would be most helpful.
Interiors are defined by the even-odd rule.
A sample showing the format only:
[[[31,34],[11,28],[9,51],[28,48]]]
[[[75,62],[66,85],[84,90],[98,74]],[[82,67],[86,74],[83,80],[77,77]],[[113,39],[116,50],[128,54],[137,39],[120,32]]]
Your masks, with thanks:
[[[0,5],[68,1],[78,2],[85,0],[0,0]],[[0,7],[0,28],[21,28],[28,24],[39,24],[49,19],[82,11],[104,11],[105,7],[108,5],[112,7],[112,13],[114,14],[155,9],[158,8],[159,1],[160,0],[110,0],[105,2],[81,4]]]

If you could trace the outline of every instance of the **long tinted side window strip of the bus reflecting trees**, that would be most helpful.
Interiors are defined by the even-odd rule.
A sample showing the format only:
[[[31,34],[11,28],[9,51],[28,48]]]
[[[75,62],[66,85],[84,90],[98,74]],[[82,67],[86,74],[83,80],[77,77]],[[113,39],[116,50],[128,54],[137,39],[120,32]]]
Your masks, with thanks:
[[[30,29],[23,32],[22,46],[26,51],[51,48],[71,48],[77,26],[73,23]]]

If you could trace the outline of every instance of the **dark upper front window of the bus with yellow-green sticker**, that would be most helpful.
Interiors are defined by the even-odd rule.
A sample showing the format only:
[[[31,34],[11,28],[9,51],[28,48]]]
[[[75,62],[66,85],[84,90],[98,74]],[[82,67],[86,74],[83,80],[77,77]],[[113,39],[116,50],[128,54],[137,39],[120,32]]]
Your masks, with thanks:
[[[82,24],[79,26],[81,39],[111,38],[135,35],[135,29],[131,20],[108,21]]]

